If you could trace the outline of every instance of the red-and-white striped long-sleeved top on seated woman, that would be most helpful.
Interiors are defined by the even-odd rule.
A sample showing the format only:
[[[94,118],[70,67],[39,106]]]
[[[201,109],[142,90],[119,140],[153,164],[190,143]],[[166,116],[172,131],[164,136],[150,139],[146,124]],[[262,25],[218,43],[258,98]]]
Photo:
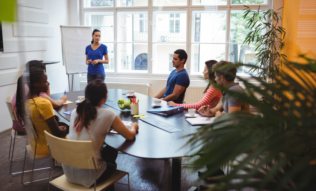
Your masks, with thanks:
[[[221,97],[222,97],[221,90],[216,89],[213,86],[210,86],[210,88],[207,89],[202,100],[199,101],[198,103],[195,103],[195,104],[177,104],[176,103],[175,107],[183,106],[185,109],[190,109],[190,108],[199,109],[200,107],[204,105],[208,105],[210,108],[215,108],[215,106],[217,105]]]

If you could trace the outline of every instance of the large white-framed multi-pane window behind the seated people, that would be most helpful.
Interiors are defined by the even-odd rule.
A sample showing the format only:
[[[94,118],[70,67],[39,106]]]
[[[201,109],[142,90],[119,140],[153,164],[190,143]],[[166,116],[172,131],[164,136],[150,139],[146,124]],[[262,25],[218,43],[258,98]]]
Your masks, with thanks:
[[[166,76],[174,69],[173,52],[184,49],[185,68],[191,77],[200,77],[207,60],[255,63],[255,45],[243,44],[252,29],[246,27],[242,9],[266,10],[271,2],[82,0],[82,13],[84,25],[101,30],[109,52],[104,65],[108,74]],[[238,68],[237,75],[247,76],[250,68]]]

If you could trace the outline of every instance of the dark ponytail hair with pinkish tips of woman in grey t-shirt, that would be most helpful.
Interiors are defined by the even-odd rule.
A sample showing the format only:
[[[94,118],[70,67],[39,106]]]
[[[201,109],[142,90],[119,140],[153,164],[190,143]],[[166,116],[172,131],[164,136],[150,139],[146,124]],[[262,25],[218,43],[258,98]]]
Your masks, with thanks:
[[[74,128],[77,134],[85,127],[88,132],[90,121],[95,120],[97,110],[95,106],[99,105],[103,98],[106,98],[107,88],[104,81],[100,79],[92,80],[88,83],[84,90],[85,100],[78,104],[76,112],[77,116],[74,122]]]

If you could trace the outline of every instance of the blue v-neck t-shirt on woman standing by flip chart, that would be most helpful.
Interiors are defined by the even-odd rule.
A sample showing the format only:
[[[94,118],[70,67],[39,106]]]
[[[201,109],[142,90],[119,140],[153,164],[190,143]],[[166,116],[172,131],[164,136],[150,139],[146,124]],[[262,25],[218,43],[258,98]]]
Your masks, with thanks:
[[[88,55],[88,60],[92,59],[92,61],[103,59],[103,55],[107,54],[107,47],[104,44],[101,44],[97,49],[93,50],[91,45],[86,47],[86,55]],[[104,67],[102,63],[98,63],[93,66],[93,64],[88,65],[88,74],[105,74]]]

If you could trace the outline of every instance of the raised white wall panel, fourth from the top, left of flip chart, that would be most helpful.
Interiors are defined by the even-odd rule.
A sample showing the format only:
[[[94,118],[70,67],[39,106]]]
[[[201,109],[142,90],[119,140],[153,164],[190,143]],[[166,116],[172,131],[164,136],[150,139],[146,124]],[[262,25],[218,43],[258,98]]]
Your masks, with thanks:
[[[47,40],[3,40],[4,52],[47,50]]]

